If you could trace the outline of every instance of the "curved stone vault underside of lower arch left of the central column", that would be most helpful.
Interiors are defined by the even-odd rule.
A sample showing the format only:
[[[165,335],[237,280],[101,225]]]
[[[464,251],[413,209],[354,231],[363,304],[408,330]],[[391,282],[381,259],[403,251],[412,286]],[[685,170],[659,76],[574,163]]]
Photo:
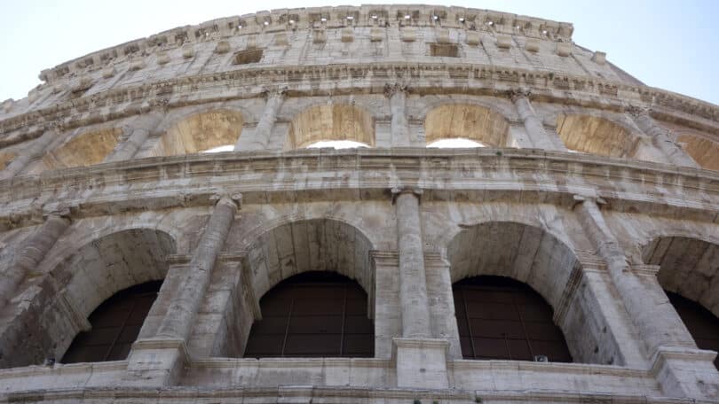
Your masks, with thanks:
[[[249,245],[255,296],[264,295],[289,276],[309,271],[347,276],[371,295],[372,249],[367,236],[345,221],[328,218],[278,221]]]

